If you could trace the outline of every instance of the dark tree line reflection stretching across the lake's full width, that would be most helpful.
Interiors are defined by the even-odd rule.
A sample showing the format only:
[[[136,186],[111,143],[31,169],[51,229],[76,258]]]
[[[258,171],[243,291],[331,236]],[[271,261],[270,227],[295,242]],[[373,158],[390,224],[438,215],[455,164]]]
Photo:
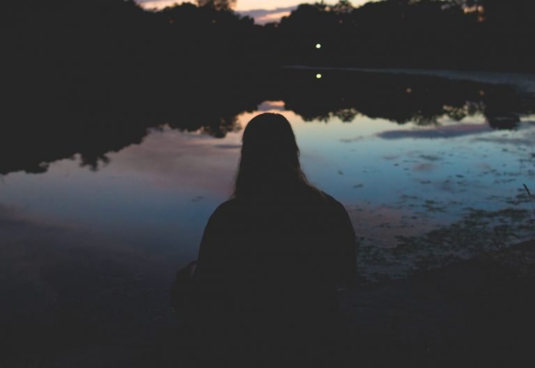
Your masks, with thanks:
[[[444,117],[461,121],[482,115],[491,128],[513,129],[520,116],[535,112],[531,95],[504,84],[377,72],[330,70],[323,75],[317,80],[309,70],[267,72],[254,87],[238,81],[203,95],[180,94],[178,101],[170,95],[158,106],[22,111],[3,127],[0,174],[42,173],[50,162],[76,154],[80,165],[95,170],[109,162],[109,153],[140,144],[148,129],[163,125],[224,138],[240,130],[240,114],[253,112],[266,100],[284,101],[278,103],[304,121],[338,118],[347,123],[364,115],[427,126],[440,124]]]

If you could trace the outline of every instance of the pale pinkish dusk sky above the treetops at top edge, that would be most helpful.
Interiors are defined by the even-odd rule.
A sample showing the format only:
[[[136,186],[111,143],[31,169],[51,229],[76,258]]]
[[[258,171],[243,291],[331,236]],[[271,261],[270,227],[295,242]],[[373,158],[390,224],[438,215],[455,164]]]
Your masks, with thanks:
[[[165,6],[171,6],[173,3],[183,3],[185,1],[180,0],[136,0],[146,8],[164,8]],[[353,6],[361,6],[369,1],[378,0],[352,0]],[[195,1],[189,1],[195,2]],[[286,15],[290,14],[300,3],[307,3],[306,0],[238,0],[236,2],[235,10],[254,17],[256,23],[277,22]],[[325,3],[332,4],[336,1],[325,1]]]

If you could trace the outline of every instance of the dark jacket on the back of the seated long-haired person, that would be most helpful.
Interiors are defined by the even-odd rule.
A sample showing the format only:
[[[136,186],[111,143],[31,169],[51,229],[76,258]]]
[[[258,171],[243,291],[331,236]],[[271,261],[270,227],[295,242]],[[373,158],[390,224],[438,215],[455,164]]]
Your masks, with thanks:
[[[238,344],[324,339],[336,334],[336,286],[350,283],[355,265],[348,213],[328,194],[231,199],[204,231],[196,326]]]

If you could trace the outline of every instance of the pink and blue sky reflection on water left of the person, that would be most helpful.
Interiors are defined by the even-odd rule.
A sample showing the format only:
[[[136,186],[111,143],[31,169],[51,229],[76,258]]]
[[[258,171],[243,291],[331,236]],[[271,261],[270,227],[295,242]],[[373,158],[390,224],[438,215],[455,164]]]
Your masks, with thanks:
[[[3,178],[0,203],[123,243],[197,244],[201,233],[192,224],[206,222],[228,196],[238,158],[236,149],[211,148],[215,142],[206,138],[155,131],[143,144],[111,153],[110,164],[97,172],[62,160],[45,174],[11,174]]]

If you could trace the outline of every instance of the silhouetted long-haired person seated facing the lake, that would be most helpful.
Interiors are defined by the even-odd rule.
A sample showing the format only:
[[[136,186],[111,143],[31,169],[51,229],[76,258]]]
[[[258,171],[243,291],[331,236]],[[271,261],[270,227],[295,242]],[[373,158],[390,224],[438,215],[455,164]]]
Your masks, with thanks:
[[[280,114],[253,118],[233,198],[210,217],[194,274],[204,358],[319,362],[318,352],[339,344],[336,286],[351,282],[355,264],[348,214],[308,183],[290,123]]]

